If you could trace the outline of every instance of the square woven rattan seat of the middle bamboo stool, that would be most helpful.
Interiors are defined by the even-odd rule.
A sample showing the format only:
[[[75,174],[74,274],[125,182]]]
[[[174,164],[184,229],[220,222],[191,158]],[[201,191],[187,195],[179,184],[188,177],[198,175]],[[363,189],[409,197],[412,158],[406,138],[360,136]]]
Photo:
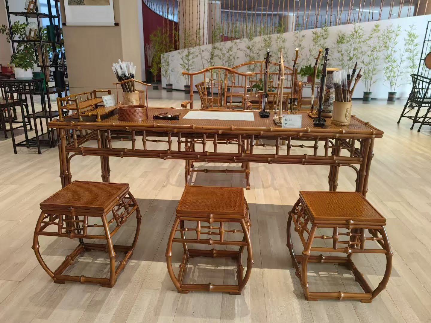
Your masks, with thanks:
[[[245,215],[242,187],[186,186],[177,214]]]

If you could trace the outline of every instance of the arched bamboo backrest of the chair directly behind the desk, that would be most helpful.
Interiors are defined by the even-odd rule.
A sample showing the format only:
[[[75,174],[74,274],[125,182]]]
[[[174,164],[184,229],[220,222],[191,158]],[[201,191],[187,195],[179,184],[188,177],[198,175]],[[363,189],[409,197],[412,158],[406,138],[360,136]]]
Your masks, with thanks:
[[[198,72],[182,72],[190,77],[190,108],[193,109],[193,81],[200,81],[198,93],[205,109],[229,109],[238,101],[244,104],[247,97],[248,78],[254,73],[241,73],[225,66],[212,66]],[[202,84],[200,84],[202,83]],[[244,108],[244,107],[243,107]]]

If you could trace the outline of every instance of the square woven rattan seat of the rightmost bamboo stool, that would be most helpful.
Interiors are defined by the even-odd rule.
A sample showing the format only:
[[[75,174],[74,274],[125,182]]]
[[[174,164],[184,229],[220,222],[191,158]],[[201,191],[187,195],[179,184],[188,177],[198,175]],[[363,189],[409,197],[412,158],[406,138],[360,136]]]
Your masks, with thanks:
[[[314,223],[358,221],[386,223],[386,219],[359,192],[300,191]]]

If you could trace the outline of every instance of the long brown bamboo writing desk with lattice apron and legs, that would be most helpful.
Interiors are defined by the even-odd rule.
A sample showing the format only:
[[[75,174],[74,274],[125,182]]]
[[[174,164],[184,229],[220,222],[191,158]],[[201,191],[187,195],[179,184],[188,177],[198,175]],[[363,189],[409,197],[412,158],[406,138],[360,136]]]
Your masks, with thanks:
[[[148,119],[143,121],[119,121],[118,115],[100,122],[94,118],[51,121],[49,127],[57,129],[59,138],[62,186],[72,181],[72,157],[92,155],[101,157],[105,182],[109,182],[109,157],[143,157],[219,163],[325,165],[329,166],[330,191],[337,190],[339,168],[348,166],[356,172],[356,191],[364,195],[368,191],[374,140],[383,137],[383,131],[355,116],[348,126],[335,126],[328,119],[325,127],[320,128],[312,126],[312,119],[306,112],[299,112],[302,128],[287,129],[274,124],[272,112],[264,119],[259,118],[257,111],[241,111],[253,113],[254,121],[183,119],[189,111],[196,110],[149,108]],[[181,113],[180,120],[153,120],[154,114],[162,112]],[[189,149],[191,139],[200,139],[202,143],[196,146],[196,151]],[[237,152],[220,152],[218,143],[231,139],[237,140]],[[207,144],[210,140],[213,145]],[[259,143],[259,140],[273,140],[274,144]],[[242,152],[244,143],[245,153]],[[255,146],[271,147],[272,150],[262,151]]]

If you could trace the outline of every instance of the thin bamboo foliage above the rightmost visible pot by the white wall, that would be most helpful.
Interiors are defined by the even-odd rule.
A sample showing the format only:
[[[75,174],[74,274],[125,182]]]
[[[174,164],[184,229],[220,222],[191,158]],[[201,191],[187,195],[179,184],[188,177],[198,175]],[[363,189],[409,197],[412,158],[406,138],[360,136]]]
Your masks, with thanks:
[[[406,48],[398,47],[398,40],[401,35],[401,26],[389,25],[382,33],[384,57],[384,78],[389,84],[390,92],[395,92],[401,85],[400,81],[405,76],[403,69]]]

